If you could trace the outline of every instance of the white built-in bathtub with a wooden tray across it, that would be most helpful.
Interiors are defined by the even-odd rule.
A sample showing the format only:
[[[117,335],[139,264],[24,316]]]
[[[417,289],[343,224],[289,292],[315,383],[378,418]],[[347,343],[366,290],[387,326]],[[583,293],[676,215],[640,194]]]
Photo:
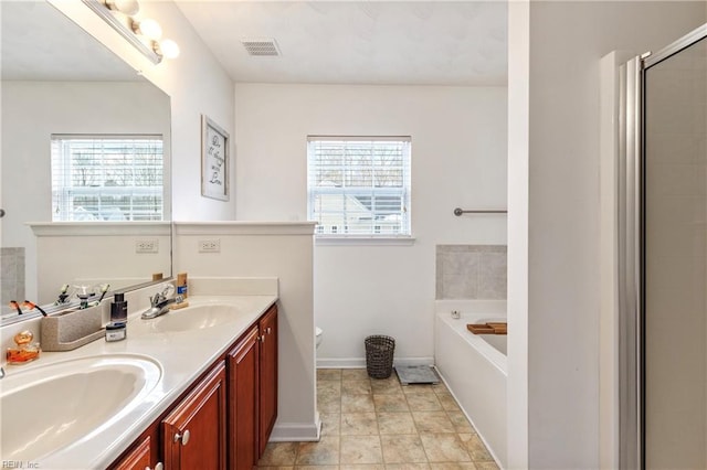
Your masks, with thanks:
[[[476,335],[466,329],[467,323],[505,321],[505,302],[485,307],[485,311],[479,312],[478,306],[450,308],[447,301],[437,302],[434,361],[447,387],[503,468],[507,449],[507,359],[502,351],[507,337]],[[460,319],[452,318],[453,309],[461,312]],[[493,337],[489,340],[495,345],[484,337]]]

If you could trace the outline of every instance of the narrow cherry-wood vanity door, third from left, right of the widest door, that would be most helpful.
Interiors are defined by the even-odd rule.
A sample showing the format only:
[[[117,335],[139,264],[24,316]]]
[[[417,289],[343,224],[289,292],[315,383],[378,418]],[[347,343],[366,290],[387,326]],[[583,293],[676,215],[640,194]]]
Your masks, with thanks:
[[[254,327],[229,353],[229,468],[257,464],[258,331]]]

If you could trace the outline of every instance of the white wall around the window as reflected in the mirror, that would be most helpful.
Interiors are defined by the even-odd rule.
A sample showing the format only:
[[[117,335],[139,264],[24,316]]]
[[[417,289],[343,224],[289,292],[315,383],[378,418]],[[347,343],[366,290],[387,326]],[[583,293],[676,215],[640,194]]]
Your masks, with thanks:
[[[2,245],[27,248],[27,296],[40,303],[53,299],[38,297],[38,266],[45,260],[38,260],[25,224],[52,220],[52,133],[157,133],[169,154],[169,97],[147,82],[2,82]],[[165,248],[161,259],[168,263]]]

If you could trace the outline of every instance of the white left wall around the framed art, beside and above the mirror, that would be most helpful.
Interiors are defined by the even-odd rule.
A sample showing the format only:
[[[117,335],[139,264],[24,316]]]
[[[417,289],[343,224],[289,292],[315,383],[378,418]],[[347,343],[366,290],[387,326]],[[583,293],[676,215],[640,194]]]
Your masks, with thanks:
[[[173,220],[233,220],[234,199],[223,202],[202,197],[200,178],[201,114],[223,129],[233,129],[233,83],[179,8],[171,1],[140,2],[141,14],[159,21],[165,38],[175,40],[181,49],[178,58],[154,65],[83,2],[49,1],[171,97]],[[232,164],[231,181],[234,172]]]

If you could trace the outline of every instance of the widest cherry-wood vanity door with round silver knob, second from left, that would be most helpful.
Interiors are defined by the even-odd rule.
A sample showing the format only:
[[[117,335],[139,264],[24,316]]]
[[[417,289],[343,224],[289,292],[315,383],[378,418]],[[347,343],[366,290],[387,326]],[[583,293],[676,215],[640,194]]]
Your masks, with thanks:
[[[225,365],[221,361],[162,420],[166,468],[225,468]]]

